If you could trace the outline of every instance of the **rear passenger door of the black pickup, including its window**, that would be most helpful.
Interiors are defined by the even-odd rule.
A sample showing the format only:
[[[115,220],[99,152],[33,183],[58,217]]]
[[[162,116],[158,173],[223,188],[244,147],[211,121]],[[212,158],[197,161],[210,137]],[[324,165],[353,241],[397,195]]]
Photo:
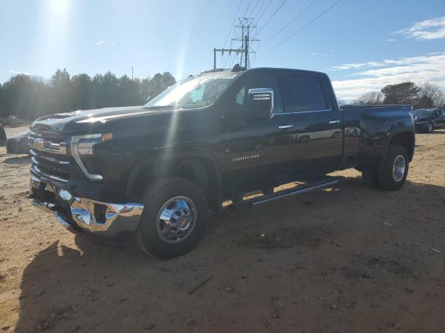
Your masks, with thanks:
[[[333,171],[343,153],[343,119],[327,77],[287,72],[279,76],[284,112],[292,117],[296,134],[298,175]]]

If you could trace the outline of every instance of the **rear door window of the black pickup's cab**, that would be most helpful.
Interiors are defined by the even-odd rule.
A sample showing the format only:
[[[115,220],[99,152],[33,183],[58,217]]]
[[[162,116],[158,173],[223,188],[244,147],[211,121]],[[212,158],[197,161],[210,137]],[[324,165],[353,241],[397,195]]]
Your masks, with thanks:
[[[286,112],[327,110],[323,87],[316,76],[284,76]]]

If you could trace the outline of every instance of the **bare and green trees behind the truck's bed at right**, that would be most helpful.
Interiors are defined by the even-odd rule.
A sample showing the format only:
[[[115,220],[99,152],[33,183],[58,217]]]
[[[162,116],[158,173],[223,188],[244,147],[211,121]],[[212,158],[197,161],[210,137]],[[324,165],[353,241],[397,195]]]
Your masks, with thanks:
[[[406,104],[414,109],[445,108],[445,93],[434,83],[425,82],[416,85],[412,82],[403,82],[396,85],[387,85],[380,91],[362,94],[355,101],[357,104]]]

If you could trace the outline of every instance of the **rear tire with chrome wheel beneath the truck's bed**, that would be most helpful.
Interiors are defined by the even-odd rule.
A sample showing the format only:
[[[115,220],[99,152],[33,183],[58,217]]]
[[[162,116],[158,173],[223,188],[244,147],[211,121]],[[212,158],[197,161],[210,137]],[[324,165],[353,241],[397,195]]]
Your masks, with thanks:
[[[408,175],[408,154],[403,146],[391,144],[382,170],[377,173],[378,185],[381,189],[395,191],[405,184]],[[403,171],[402,171],[403,168]]]

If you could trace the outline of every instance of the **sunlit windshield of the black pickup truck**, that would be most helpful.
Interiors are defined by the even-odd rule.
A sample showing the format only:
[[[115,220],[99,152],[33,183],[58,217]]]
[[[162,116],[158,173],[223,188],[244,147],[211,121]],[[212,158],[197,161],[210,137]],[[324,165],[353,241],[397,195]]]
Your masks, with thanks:
[[[234,82],[236,76],[236,73],[227,72],[190,76],[161,92],[145,106],[147,108],[168,106],[202,108],[214,103]]]

